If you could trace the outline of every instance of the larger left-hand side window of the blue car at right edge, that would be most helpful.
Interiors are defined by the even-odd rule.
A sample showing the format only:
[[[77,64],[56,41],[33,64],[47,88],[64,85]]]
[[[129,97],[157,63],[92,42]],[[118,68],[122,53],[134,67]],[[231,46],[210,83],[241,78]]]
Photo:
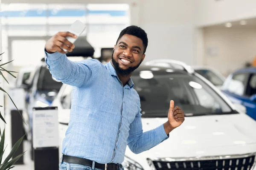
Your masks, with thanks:
[[[239,96],[244,95],[245,85],[247,82],[248,74],[235,74],[233,75],[229,85],[227,86],[227,91]]]

